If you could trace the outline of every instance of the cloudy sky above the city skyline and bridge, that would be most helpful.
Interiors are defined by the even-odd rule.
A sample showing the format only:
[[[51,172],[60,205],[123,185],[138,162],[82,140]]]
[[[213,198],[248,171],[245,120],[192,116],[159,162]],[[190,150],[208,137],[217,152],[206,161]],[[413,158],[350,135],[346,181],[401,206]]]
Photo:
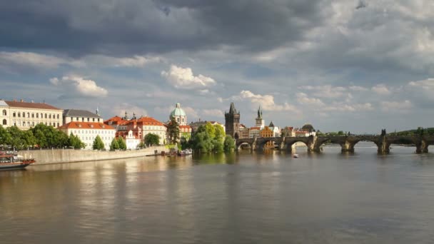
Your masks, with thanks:
[[[101,116],[434,127],[434,1],[0,0],[0,98]]]

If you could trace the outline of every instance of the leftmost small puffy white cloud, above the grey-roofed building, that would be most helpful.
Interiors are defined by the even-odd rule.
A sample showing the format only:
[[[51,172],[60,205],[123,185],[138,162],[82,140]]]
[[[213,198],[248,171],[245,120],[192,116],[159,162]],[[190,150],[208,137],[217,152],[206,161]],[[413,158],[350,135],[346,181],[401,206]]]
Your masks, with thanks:
[[[76,93],[80,96],[105,97],[109,93],[105,88],[96,85],[95,81],[80,76],[64,76],[62,78],[50,78],[54,86],[61,86],[68,93],[66,96]],[[71,91],[70,88],[73,88]]]

